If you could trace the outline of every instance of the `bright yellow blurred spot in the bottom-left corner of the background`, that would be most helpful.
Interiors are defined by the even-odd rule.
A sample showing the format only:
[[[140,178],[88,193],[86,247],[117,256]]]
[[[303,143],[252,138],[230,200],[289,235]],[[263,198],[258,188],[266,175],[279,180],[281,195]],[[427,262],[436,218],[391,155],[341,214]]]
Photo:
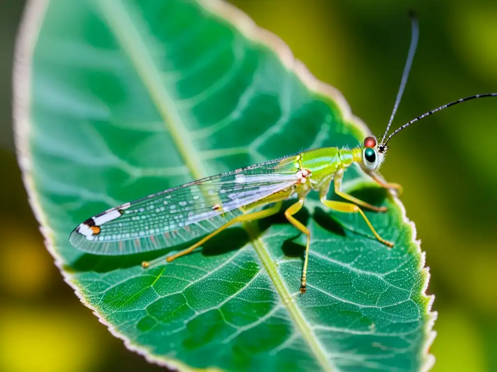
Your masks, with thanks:
[[[0,371],[78,372],[97,365],[100,348],[69,309],[9,308],[0,317]],[[94,319],[96,321],[96,319]]]

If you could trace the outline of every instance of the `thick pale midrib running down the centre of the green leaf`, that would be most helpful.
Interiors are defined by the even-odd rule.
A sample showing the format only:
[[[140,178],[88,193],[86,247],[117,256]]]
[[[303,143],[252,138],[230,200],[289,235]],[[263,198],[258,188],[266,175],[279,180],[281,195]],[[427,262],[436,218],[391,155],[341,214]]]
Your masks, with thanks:
[[[121,47],[136,68],[145,88],[149,91],[149,94],[163,118],[166,127],[171,133],[173,142],[177,146],[191,175],[194,179],[208,177],[209,174],[203,166],[200,157],[198,157],[198,151],[195,148],[183,121],[178,112],[174,110],[172,98],[167,94],[164,85],[161,84],[162,78],[157,68],[157,64],[154,62],[150,55],[149,48],[147,48],[146,43],[142,40],[140,37],[141,35],[135,27],[135,22],[138,20],[132,20],[124,5],[119,1],[96,1],[96,4],[98,4],[110,30],[117,36]],[[243,226],[248,231],[255,251],[259,255],[283,305],[287,308],[294,323],[301,331],[303,338],[308,343],[308,346],[322,368],[325,371],[332,371],[333,369],[330,360],[327,358],[323,346],[318,341],[300,309],[296,306],[295,299],[279,276],[264,242],[258,238],[260,234],[258,233],[256,226],[249,223],[243,224]]]

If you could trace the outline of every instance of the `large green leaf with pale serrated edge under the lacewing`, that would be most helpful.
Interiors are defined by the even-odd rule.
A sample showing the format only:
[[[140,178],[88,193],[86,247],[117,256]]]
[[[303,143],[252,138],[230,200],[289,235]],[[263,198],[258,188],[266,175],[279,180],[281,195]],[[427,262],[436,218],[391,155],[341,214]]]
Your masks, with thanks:
[[[337,56],[336,58],[339,58]],[[416,371],[433,363],[424,255],[401,202],[358,167],[344,186],[388,213],[306,202],[302,237],[280,215],[167,251],[98,256],[68,236],[106,208],[302,148],[369,134],[341,95],[274,35],[220,1],[33,1],[18,43],[19,162],[47,247],[83,303],[159,364],[234,371]],[[330,195],[332,197],[332,195]],[[190,367],[188,367],[190,366]]]

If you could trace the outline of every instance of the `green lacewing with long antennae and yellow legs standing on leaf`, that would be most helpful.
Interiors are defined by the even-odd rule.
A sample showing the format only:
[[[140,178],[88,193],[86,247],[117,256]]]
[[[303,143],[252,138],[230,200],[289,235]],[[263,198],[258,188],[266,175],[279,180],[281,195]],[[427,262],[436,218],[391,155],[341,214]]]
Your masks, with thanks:
[[[400,193],[401,186],[385,182],[377,173],[392,136],[410,124],[449,106],[476,98],[497,97],[497,93],[488,93],[459,99],[415,118],[387,137],[417,46],[418,24],[414,14],[411,14],[411,26],[411,45],[401,85],[387,129],[379,143],[375,137],[369,136],[364,139],[362,146],[352,149],[312,149],[154,193],[88,218],[71,233],[71,244],[93,254],[120,255],[196,241],[178,253],[143,263],[144,268],[151,267],[165,261],[171,262],[191,252],[236,223],[275,214],[280,210],[283,200],[295,198],[296,202],[284,214],[293,226],[307,235],[300,288],[304,293],[310,232],[294,214],[302,208],[309,192],[315,190],[319,192],[323,204],[330,209],[360,214],[375,238],[387,247],[393,247],[393,243],[384,240],[376,232],[362,211],[362,208],[368,208],[382,212],[386,208],[368,204],[343,192],[341,181],[344,172],[351,164],[357,163],[380,186],[397,189]],[[344,201],[327,200],[331,186]]]

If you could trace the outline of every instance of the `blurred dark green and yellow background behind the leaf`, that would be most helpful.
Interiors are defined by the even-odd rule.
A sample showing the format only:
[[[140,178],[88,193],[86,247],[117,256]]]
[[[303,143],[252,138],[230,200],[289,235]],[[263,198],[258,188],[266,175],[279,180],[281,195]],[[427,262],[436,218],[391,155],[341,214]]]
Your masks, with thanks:
[[[234,0],[276,33],[381,135],[410,41],[420,41],[393,127],[497,91],[497,2]],[[64,283],[43,246],[17,167],[11,68],[23,1],[0,3],[0,371],[158,371],[128,352]],[[497,99],[429,117],[391,142],[383,175],[426,252],[436,299],[433,371],[497,371]]]

